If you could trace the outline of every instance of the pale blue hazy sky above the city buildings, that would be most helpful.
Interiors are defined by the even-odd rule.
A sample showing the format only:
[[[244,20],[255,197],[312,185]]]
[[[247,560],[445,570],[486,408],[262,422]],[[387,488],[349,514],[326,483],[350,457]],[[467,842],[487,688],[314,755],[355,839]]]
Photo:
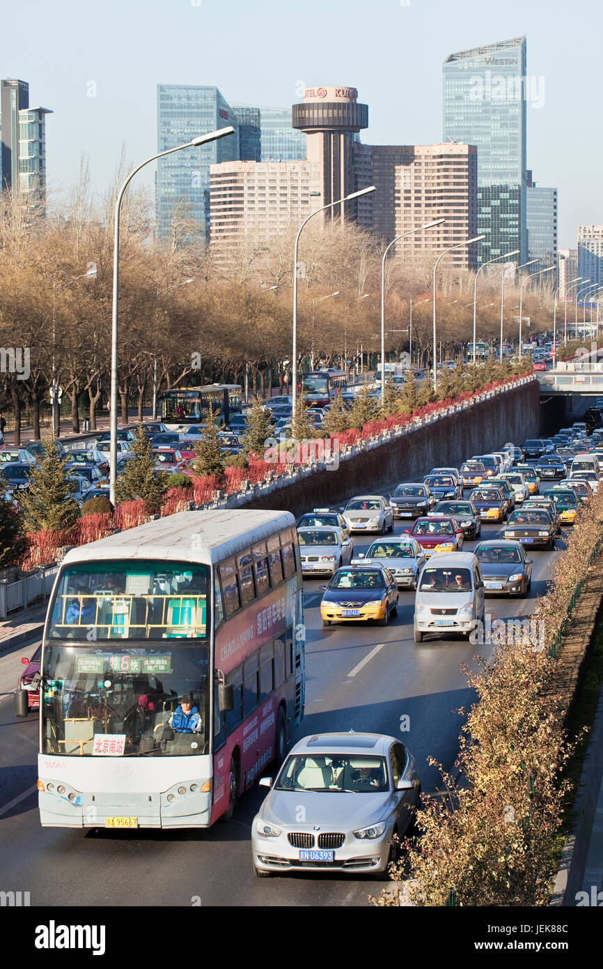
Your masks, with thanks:
[[[559,247],[603,223],[598,0],[21,0],[2,15],[3,78],[29,81],[46,118],[48,186],[67,192],[82,152],[103,194],[125,143],[156,150],[156,84],[216,84],[226,100],[288,107],[304,86],[351,85],[362,141],[441,139],[441,64],[454,50],[526,35],[528,168],[558,188]],[[94,96],[90,96],[90,95]],[[153,170],[137,176],[151,185]]]

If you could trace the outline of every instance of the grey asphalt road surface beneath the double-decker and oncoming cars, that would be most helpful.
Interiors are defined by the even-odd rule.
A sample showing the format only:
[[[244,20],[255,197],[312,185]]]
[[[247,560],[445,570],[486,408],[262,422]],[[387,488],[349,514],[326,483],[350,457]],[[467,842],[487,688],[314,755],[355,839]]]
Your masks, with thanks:
[[[397,521],[395,532],[401,529]],[[482,527],[482,538],[498,533],[499,526]],[[366,550],[373,538],[354,535],[355,551]],[[558,541],[558,547],[563,544]],[[474,545],[466,543],[465,549]],[[487,611],[500,618],[531,612],[556,554],[530,550],[528,599],[488,598]],[[438,774],[427,758],[453,767],[462,725],[455,711],[472,700],[460,666],[472,664],[477,651],[489,657],[492,647],[458,637],[415,644],[412,592],[401,592],[398,616],[385,628],[357,623],[323,629],[321,581],[304,583],[306,715],[298,736],[350,729],[401,736],[414,754],[423,790],[435,791]],[[330,873],[256,879],[249,842],[264,796],[257,785],[242,797],[229,824],[206,831],[41,828],[37,717],[17,720],[12,696],[20,657],[31,652],[19,647],[0,659],[0,890],[30,891],[32,905],[66,906],[349,906],[366,905],[368,895],[378,891],[366,877]]]

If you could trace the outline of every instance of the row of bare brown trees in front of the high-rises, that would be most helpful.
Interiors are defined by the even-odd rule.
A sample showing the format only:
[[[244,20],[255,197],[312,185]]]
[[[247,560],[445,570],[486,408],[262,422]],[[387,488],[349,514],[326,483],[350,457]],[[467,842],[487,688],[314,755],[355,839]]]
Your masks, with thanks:
[[[71,402],[74,431],[84,404],[91,427],[106,404],[110,364],[113,211],[122,159],[106,199],[94,206],[87,166],[73,197],[39,218],[18,198],[0,197],[0,403],[10,410],[16,439],[24,408],[33,436],[40,436],[41,408],[48,406],[53,376]],[[122,207],[120,242],[119,394],[122,420],[136,400],[138,417],[149,401],[154,368],[161,390],[214,381],[264,391],[278,373],[287,379],[291,347],[293,236],[296,227],[270,239],[249,236],[236,245],[205,246],[176,209],[172,231],[159,243],[149,200],[130,191]],[[380,242],[352,224],[309,224],[298,263],[298,363],[314,351],[316,364],[354,359],[380,345]],[[392,258],[387,264],[386,345],[399,353],[408,344],[408,299],[417,359],[431,353],[430,267]],[[446,270],[438,276],[438,332],[444,356],[470,339],[472,275]],[[499,280],[480,278],[479,338],[499,328]],[[517,293],[507,283],[505,335]],[[317,302],[320,297],[338,293]],[[365,297],[365,294],[370,296]],[[447,295],[446,295],[447,294]],[[470,294],[470,296],[469,296]],[[470,305],[467,305],[471,302]],[[549,328],[550,305],[525,298],[536,329]],[[541,307],[541,308],[538,308]],[[19,356],[20,350],[20,356]],[[27,365],[25,365],[25,359]],[[364,358],[366,366],[366,356]]]

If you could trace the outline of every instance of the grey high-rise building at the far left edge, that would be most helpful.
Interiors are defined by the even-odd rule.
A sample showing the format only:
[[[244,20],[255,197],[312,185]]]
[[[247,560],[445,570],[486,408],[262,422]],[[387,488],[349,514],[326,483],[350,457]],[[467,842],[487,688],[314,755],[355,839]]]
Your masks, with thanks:
[[[2,188],[12,189],[39,211],[45,208],[47,108],[29,107],[29,84],[0,82]]]

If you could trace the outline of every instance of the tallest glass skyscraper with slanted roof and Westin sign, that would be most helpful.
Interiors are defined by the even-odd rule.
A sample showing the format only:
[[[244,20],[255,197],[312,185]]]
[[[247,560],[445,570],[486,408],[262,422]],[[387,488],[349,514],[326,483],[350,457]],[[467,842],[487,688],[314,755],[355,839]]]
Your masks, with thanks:
[[[526,38],[450,54],[443,64],[443,141],[477,146],[478,266],[514,249],[528,259]]]

